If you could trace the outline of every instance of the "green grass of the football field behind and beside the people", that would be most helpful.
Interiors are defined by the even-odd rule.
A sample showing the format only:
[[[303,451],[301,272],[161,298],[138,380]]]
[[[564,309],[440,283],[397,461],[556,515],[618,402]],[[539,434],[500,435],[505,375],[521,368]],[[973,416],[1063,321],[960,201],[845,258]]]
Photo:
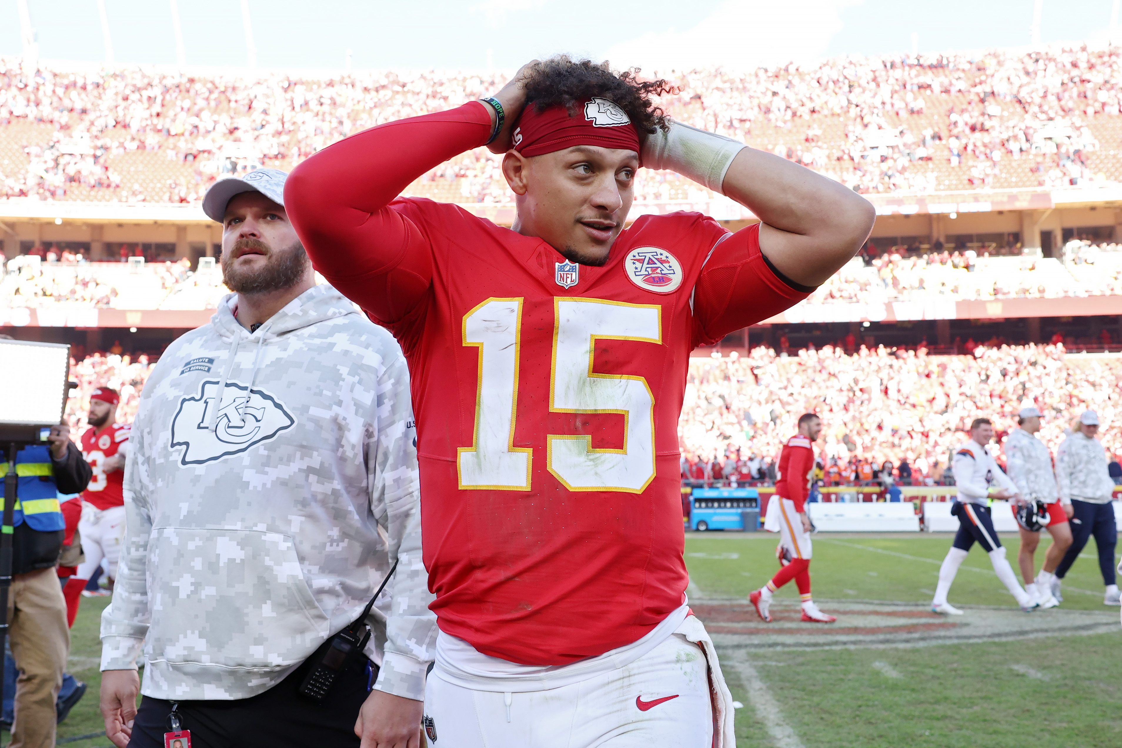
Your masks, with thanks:
[[[778,569],[776,539],[767,533],[688,534],[691,597],[743,599],[763,585]],[[1015,569],[1018,538],[1002,536],[1002,542]],[[815,598],[829,611],[831,600],[929,601],[950,536],[819,534],[813,543]],[[1038,564],[1048,543],[1041,541]],[[1102,603],[1094,553],[1092,543],[1068,574],[1063,608],[1110,610]],[[794,584],[778,595],[797,597]],[[1015,608],[978,548],[963,564],[950,601]],[[90,690],[59,726],[58,739],[99,733],[64,744],[73,748],[110,745],[100,735],[98,712],[98,626],[107,603],[107,598],[83,599],[72,631],[70,669]],[[744,655],[792,735],[776,740],[769,733],[739,676],[726,667],[733,695],[744,703],[736,726],[742,748],[1122,746],[1122,629],[1020,641]],[[4,733],[4,744],[9,739]]]

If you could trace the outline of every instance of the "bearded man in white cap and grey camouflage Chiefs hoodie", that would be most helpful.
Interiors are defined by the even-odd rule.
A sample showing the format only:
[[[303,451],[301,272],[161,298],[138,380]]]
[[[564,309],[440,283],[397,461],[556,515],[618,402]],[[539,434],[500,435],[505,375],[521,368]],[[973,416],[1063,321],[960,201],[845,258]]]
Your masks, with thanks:
[[[260,169],[206,194],[236,293],[164,352],[132,424],[101,628],[101,707],[120,748],[163,747],[176,721],[192,748],[419,740],[436,627],[408,371],[388,332],[315,285],[285,176]],[[310,656],[395,562],[365,652],[322,703],[301,696]]]

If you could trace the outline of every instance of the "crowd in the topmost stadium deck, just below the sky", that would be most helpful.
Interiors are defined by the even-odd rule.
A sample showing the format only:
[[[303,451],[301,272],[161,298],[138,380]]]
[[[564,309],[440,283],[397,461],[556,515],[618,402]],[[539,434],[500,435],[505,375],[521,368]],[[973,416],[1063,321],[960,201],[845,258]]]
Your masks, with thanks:
[[[1084,46],[651,73],[677,86],[661,103],[678,120],[859,192],[931,192],[1120,176],[1096,158],[1093,132],[1119,114],[1119,47]],[[140,67],[31,71],[0,59],[0,150],[7,139],[4,153],[22,159],[3,169],[0,195],[194,202],[223,174],[291,168],[347,135],[487,95],[504,80],[438,72],[247,80]],[[42,142],[26,145],[35,127]],[[508,202],[498,164],[476,149],[411,191]],[[668,173],[641,173],[636,186],[638,200],[708,196]]]

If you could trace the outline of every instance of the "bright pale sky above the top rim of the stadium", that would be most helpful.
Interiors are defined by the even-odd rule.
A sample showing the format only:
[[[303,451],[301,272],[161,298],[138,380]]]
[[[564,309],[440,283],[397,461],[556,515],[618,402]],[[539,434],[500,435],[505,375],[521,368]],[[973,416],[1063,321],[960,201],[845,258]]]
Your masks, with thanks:
[[[1042,43],[1102,39],[1115,0],[1045,0]],[[558,52],[647,70],[1029,43],[1033,0],[248,0],[258,67],[511,70]],[[168,0],[104,0],[118,63],[174,64]],[[39,56],[102,61],[96,0],[27,0]],[[239,0],[178,3],[188,65],[245,66]],[[0,55],[21,53],[0,0]]]

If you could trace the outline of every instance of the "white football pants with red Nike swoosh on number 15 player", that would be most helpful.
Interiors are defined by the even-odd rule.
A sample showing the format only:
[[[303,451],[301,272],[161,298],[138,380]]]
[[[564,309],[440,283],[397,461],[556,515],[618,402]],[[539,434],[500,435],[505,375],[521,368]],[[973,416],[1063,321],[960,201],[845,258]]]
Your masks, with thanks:
[[[732,703],[719,665],[716,675],[730,737]],[[475,691],[449,683],[436,668],[424,710],[436,733],[431,748],[710,748],[714,722],[724,721],[714,719],[706,650],[682,634],[629,665],[549,691]]]

